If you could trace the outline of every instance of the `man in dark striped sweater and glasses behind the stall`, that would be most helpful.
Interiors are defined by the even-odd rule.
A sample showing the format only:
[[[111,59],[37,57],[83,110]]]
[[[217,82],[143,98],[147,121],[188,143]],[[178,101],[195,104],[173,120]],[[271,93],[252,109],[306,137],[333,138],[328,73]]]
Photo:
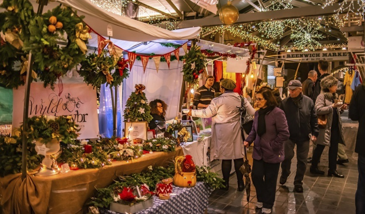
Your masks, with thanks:
[[[205,80],[205,84],[196,89],[193,99],[193,105],[198,108],[207,108],[214,98],[214,89],[212,85],[214,83],[214,77],[208,76]]]

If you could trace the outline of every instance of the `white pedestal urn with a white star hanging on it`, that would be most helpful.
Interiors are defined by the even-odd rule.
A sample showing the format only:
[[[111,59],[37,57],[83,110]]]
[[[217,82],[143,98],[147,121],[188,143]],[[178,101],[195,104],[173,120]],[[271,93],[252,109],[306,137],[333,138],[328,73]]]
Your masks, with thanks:
[[[35,142],[35,150],[38,152],[38,146],[42,146],[43,143],[40,141]],[[58,169],[52,168],[53,160],[50,158],[50,155],[55,154],[59,151],[61,148],[59,146],[59,141],[56,138],[53,138],[51,142],[48,142],[45,144],[46,147],[49,149],[46,152],[46,156],[42,161],[42,168],[41,170],[36,174],[38,176],[50,176],[50,175],[56,175],[59,173]]]

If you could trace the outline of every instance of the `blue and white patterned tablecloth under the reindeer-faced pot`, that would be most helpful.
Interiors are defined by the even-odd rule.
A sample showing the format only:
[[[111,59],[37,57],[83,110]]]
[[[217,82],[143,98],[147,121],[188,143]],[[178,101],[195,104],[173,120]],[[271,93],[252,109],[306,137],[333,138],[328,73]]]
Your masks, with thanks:
[[[212,193],[203,182],[197,182],[195,187],[183,188],[173,186],[170,199],[161,200],[153,196],[153,206],[137,214],[203,214],[208,206],[208,197]],[[118,214],[107,209],[100,209],[101,214]]]

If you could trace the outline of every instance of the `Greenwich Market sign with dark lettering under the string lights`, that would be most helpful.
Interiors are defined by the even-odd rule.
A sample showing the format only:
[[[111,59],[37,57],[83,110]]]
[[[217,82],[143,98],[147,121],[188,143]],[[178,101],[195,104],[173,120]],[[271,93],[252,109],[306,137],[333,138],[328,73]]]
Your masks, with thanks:
[[[349,53],[347,51],[320,51],[320,52],[281,52],[290,58],[302,58],[301,62],[313,62],[318,60],[327,61],[347,61],[349,60]],[[288,62],[286,62],[288,63]]]

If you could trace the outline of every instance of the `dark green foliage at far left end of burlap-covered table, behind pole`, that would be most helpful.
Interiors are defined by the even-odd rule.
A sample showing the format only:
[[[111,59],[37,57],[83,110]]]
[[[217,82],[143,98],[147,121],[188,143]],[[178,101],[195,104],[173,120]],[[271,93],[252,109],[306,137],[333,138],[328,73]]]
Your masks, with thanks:
[[[42,156],[37,155],[35,144],[27,144],[27,170],[29,172],[41,165]],[[22,138],[0,136],[0,177],[22,171]]]

